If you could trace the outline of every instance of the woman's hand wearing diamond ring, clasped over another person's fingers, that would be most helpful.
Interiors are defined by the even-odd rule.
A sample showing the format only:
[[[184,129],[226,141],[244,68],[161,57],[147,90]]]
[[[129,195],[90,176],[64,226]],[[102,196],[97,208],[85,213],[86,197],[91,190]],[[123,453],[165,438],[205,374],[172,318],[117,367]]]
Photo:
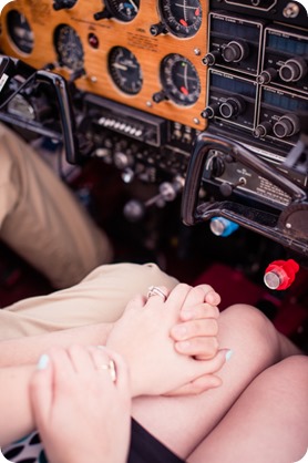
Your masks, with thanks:
[[[185,301],[188,300],[187,307],[191,307],[191,291],[193,295],[199,288],[179,284],[166,301],[160,296],[153,296],[146,302],[142,297],[136,297],[129,302],[113,327],[106,346],[127,361],[133,397],[170,393],[197,379],[206,389],[205,375],[218,371],[225,363],[227,350],[218,351],[211,360],[196,360],[179,354],[175,349],[171,331],[178,323],[179,313],[186,307]],[[209,387],[213,387],[211,381]]]

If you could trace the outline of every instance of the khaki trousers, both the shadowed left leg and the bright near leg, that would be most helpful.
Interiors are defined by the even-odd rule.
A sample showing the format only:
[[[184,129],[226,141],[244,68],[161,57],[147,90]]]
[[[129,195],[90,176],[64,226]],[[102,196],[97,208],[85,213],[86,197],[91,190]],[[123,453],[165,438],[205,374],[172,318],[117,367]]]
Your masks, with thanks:
[[[176,284],[154,264],[100,266],[112,255],[105,235],[49,166],[3,125],[0,238],[55,288],[69,287],[1,309],[0,339],[114,321],[135,294]]]

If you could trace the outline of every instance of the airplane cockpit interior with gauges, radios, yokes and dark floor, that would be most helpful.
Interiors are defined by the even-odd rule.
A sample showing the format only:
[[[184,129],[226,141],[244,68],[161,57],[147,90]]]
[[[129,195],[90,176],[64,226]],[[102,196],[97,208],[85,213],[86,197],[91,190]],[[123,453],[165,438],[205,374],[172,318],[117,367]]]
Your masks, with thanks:
[[[308,17],[290,0],[12,0],[0,123],[114,261],[211,284],[308,352]],[[52,288],[0,246],[1,306]]]

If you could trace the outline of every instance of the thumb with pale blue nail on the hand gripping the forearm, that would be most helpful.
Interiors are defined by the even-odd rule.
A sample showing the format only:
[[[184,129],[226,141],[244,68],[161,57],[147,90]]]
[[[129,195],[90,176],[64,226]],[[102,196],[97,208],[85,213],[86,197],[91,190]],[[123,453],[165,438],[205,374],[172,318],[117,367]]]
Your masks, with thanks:
[[[50,357],[43,353],[29,384],[30,403],[38,428],[44,428],[49,422],[53,401],[52,378]]]

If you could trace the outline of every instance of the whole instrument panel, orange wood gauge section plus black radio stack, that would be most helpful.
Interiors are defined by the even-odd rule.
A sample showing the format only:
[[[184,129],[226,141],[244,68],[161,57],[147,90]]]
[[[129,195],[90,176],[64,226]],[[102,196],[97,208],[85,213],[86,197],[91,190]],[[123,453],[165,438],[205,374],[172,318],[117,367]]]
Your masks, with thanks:
[[[177,188],[204,131],[242,143],[251,166],[255,157],[285,163],[299,141],[298,113],[308,112],[307,19],[288,0],[13,0],[2,10],[0,39],[8,56],[71,84],[66,120],[75,124],[66,141],[82,140],[69,162],[100,156],[124,182],[167,179]],[[61,138],[50,126],[52,97],[35,82],[19,93],[16,84],[2,120]],[[286,207],[281,188],[250,164],[222,163],[223,155],[209,153],[207,187]],[[292,167],[283,168],[306,188],[307,173]]]

